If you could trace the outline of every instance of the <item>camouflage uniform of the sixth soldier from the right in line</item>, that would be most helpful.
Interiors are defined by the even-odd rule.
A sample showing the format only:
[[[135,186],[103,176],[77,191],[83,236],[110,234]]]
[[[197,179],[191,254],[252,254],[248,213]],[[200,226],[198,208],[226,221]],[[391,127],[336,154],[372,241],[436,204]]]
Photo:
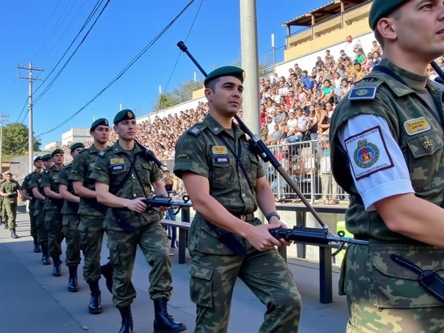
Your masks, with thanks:
[[[51,191],[58,193],[58,176],[60,169],[56,164],[46,169],[42,176],[40,186],[49,187]],[[53,276],[60,276],[60,255],[62,255],[62,241],[64,238],[62,232],[62,206],[63,199],[49,198],[46,196],[44,202],[44,225],[48,230],[49,256],[53,258],[54,271]]]

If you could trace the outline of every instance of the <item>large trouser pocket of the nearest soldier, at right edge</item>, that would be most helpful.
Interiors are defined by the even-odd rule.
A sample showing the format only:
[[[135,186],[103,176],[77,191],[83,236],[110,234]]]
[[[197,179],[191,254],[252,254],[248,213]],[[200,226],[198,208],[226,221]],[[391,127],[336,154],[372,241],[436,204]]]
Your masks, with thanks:
[[[444,278],[444,250],[432,247],[373,248],[370,259],[373,265],[374,304],[379,309],[414,309],[442,307],[443,302],[428,293],[418,282],[418,274],[391,259],[399,255],[416,264],[423,271],[434,269]]]

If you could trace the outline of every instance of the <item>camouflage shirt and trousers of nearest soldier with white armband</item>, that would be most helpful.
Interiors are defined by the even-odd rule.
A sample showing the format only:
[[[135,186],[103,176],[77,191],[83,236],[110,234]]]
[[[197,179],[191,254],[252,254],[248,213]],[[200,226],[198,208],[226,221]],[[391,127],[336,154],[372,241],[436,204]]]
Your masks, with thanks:
[[[406,80],[416,75],[388,60],[382,60],[379,65]],[[426,88],[439,117],[444,119],[443,92],[430,83]],[[372,98],[373,89],[376,94]],[[338,184],[352,196],[359,196],[348,156],[338,148],[341,145],[339,128],[359,114],[374,114],[386,119],[398,141],[416,196],[441,205],[444,199],[443,128],[432,111],[425,108],[420,96],[382,71],[372,71],[357,83],[349,97],[351,95],[355,99],[343,99],[330,123],[332,172]],[[429,130],[407,133],[407,123],[421,117],[429,124]],[[433,143],[432,149],[424,144],[429,141]],[[369,246],[349,246],[341,269],[340,294],[347,295],[350,312],[347,332],[444,332],[443,302],[420,286],[417,274],[391,259],[391,254],[397,254],[424,270],[436,269],[443,276],[444,248],[422,244],[389,230],[381,216],[367,212],[359,200],[348,207],[345,224],[355,237],[370,241]]]

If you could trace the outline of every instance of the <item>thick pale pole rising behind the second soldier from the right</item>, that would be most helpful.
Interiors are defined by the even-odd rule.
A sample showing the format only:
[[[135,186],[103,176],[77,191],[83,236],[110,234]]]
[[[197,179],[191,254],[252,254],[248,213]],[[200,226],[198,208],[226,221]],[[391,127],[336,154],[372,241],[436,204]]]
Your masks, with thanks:
[[[241,63],[246,73],[244,80],[244,122],[251,132],[261,136],[259,110],[259,54],[257,51],[256,0],[240,0]],[[264,214],[257,210],[257,218]]]

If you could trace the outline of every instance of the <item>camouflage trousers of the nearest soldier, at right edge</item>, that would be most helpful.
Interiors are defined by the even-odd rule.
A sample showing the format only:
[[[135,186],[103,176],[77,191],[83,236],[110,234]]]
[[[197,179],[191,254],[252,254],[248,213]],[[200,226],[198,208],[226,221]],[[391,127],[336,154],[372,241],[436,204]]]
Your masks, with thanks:
[[[418,274],[393,262],[395,254],[423,270],[441,268],[443,249],[387,244],[348,248],[339,293],[347,295],[347,333],[444,333],[444,305],[418,283]],[[441,266],[440,266],[441,265]]]

